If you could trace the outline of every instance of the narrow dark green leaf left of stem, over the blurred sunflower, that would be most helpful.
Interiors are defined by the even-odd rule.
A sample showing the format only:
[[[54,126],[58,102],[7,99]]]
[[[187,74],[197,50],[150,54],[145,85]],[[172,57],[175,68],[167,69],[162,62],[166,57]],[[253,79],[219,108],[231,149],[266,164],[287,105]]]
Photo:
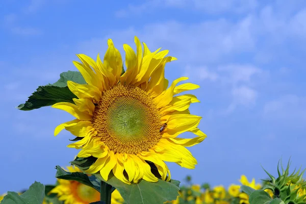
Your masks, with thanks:
[[[94,182],[96,180],[95,176],[88,176],[85,173],[81,172],[67,172],[64,169],[62,169],[60,166],[56,166],[57,172],[55,177],[57,179],[64,179],[64,180],[70,180],[70,181],[77,181],[80,182],[86,186],[90,186],[100,192],[100,184],[99,182]],[[93,181],[93,182],[92,182]]]

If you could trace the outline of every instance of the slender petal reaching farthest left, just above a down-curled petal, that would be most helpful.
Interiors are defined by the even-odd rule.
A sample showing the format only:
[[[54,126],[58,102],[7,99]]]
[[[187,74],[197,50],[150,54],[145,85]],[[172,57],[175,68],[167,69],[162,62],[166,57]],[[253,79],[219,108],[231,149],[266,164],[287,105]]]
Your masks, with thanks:
[[[56,108],[56,109],[61,109],[63,111],[66,111],[68,113],[70,113],[71,115],[73,115],[74,117],[80,119],[80,120],[90,120],[91,119],[91,115],[89,115],[86,112],[81,112],[78,109],[77,105],[68,103],[68,102],[60,102],[60,103],[56,103],[52,106],[52,108]]]

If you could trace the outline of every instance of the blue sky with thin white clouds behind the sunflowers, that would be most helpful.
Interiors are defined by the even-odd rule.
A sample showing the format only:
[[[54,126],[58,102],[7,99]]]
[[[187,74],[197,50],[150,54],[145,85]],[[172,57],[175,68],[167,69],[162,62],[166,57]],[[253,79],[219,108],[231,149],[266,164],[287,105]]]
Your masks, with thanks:
[[[90,2],[90,3],[89,3]],[[72,1],[2,0],[0,193],[55,182],[77,150],[72,135],[54,128],[72,119],[50,107],[15,107],[39,85],[76,70],[75,54],[104,55],[112,38],[135,47],[163,47],[178,60],[166,66],[170,81],[189,77],[201,103],[208,137],[190,150],[195,169],[169,164],[172,178],[228,186],[241,174],[265,179],[279,159],[306,168],[306,2],[259,0]],[[184,136],[184,134],[182,135]],[[185,136],[188,137],[188,134]]]

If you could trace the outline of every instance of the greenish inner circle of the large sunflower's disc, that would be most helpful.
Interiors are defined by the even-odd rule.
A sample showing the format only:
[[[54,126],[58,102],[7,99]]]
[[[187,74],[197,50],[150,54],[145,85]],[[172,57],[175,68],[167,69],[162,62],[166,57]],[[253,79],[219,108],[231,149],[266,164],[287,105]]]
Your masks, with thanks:
[[[121,141],[141,139],[146,130],[147,107],[133,97],[118,97],[108,109],[109,128]]]

